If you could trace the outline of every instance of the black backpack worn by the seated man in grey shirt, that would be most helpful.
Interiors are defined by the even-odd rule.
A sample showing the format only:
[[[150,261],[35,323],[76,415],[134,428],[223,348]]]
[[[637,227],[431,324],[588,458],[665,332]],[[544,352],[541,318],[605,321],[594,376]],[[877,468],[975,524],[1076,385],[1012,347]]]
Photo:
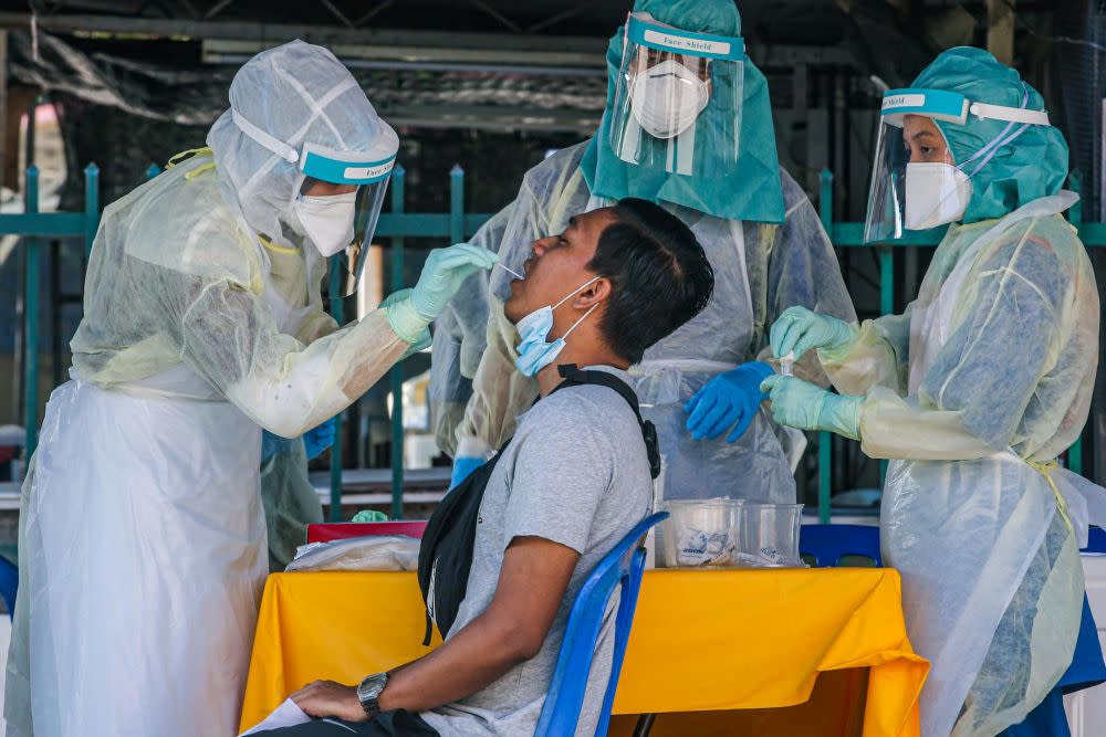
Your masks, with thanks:
[[[634,390],[625,381],[605,371],[583,371],[574,365],[560,366],[557,370],[564,381],[557,385],[550,396],[566,387],[591,383],[613,389],[626,400],[641,428],[641,438],[649,457],[649,473],[654,478],[660,475],[657,429],[648,420],[641,419]],[[472,545],[477,535],[480,503],[483,501],[488,480],[491,478],[495,464],[502,456],[503,448],[455,486],[427,523],[418,551],[418,585],[422,590],[422,601],[426,603],[424,645],[430,644],[434,624],[437,624],[438,631],[445,635],[457,619],[457,611],[469,586],[469,569],[472,567]]]

